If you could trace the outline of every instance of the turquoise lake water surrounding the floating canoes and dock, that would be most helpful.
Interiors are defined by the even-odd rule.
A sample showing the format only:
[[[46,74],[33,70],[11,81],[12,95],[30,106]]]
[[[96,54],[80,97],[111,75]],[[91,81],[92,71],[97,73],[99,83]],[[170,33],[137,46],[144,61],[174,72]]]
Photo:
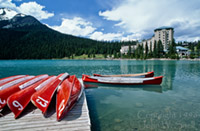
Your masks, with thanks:
[[[17,74],[128,74],[154,71],[160,86],[86,89],[92,130],[200,129],[200,61],[1,60],[0,78]]]

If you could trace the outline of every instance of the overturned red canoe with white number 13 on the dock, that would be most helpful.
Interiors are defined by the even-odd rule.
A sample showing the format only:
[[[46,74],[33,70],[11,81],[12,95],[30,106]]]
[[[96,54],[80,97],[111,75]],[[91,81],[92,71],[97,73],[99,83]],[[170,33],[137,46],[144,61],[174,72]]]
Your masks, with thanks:
[[[45,85],[41,90],[37,91],[32,95],[31,102],[37,108],[39,108],[43,114],[46,113],[57,87],[68,76],[68,73],[60,74],[51,83]]]

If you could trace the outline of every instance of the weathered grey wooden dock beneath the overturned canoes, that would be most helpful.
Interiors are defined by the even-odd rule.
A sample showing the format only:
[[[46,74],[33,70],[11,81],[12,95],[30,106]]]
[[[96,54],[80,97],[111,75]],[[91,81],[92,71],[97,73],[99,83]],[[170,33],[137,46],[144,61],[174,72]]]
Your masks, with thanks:
[[[45,118],[39,109],[22,116],[19,119],[14,119],[14,114],[9,114],[0,117],[0,130],[68,130],[68,131],[90,131],[90,117],[86,101],[85,92],[81,96],[78,103],[60,122],[56,121],[56,113]]]

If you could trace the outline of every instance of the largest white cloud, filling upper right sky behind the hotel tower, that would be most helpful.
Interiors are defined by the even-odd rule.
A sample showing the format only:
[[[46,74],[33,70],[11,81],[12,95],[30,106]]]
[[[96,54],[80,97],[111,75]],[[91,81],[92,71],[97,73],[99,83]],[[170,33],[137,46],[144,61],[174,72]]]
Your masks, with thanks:
[[[112,10],[100,11],[106,20],[117,21],[126,32],[140,33],[141,37],[150,36],[160,26],[173,26],[177,39],[200,36],[199,0],[125,0]],[[188,32],[188,30],[192,32]],[[152,30],[152,32],[150,32]],[[183,32],[185,37],[181,37]],[[176,34],[176,32],[179,32]],[[195,33],[194,36],[190,33]]]

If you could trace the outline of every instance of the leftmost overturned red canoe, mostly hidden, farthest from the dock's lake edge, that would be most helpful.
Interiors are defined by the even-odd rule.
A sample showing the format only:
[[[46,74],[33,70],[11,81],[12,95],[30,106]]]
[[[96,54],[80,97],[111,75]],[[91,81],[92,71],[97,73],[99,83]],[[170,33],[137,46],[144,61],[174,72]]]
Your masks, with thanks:
[[[27,75],[17,75],[17,76],[10,76],[10,77],[6,77],[6,78],[3,78],[0,80],[0,90],[1,90],[1,86],[7,84],[7,83],[10,83],[12,81],[15,81],[17,79],[20,79],[20,78],[23,78],[23,77],[26,77]]]

